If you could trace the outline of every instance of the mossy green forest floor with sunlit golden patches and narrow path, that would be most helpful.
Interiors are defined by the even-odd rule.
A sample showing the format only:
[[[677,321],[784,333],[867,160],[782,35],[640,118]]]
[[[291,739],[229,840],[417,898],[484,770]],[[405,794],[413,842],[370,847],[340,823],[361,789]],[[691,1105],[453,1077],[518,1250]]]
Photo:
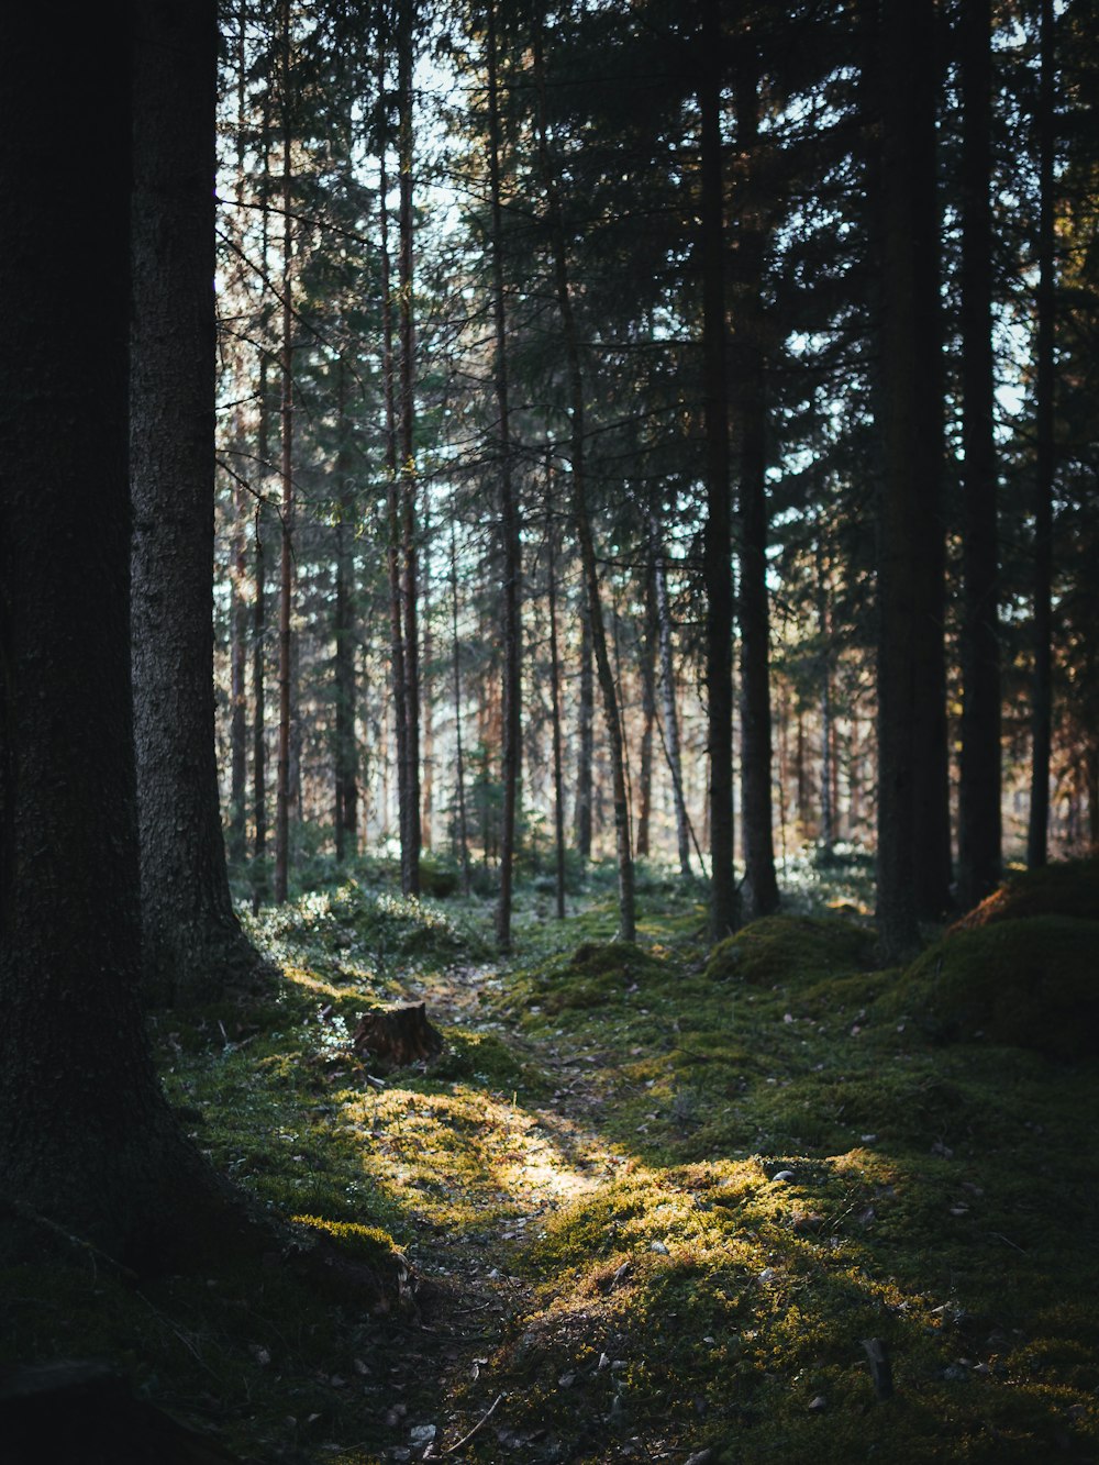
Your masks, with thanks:
[[[366,866],[265,913],[277,992],[155,1017],[169,1096],[402,1295],[59,1256],[0,1276],[0,1357],[281,1465],[1099,1461],[1095,867],[904,971],[857,858],[796,873],[717,951],[659,870],[636,946],[596,870],[508,963],[488,902]],[[445,1049],[378,1087],[358,1017],[419,1001]]]

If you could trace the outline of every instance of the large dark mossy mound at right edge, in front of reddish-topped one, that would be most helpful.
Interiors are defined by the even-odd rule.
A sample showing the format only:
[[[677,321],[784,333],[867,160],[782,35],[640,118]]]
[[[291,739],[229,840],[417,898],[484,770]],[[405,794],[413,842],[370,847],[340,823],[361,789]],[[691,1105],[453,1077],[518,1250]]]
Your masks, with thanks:
[[[938,1042],[983,1036],[1051,1058],[1099,1053],[1099,961],[1093,921],[1001,920],[955,930],[919,957],[878,1004]]]

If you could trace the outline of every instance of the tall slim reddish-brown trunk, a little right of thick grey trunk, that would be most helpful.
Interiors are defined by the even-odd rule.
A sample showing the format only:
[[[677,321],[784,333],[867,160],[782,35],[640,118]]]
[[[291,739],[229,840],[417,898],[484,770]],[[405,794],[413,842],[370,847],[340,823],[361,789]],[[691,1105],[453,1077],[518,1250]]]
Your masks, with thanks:
[[[278,769],[275,775],[275,873],[274,898],[283,904],[289,889],[290,870],[290,712],[293,706],[293,171],[290,158],[290,0],[281,6],[281,108],[283,108],[283,309],[281,309],[281,563],[278,582]]]

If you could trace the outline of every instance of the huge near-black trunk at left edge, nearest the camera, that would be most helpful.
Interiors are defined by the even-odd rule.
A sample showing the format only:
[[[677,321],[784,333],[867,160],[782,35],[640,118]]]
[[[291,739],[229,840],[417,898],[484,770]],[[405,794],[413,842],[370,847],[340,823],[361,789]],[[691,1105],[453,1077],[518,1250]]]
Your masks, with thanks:
[[[198,100],[212,107],[212,6],[149,4],[138,19],[144,105],[154,101],[148,53],[171,37],[186,76],[193,42],[183,37],[196,29]],[[41,1239],[38,1222],[13,1219],[19,1210],[144,1269],[179,1264],[215,1234],[229,1247],[236,1229],[223,1182],[161,1096],[141,1008],[130,41],[130,7],[111,0],[60,28],[48,9],[0,15],[0,174],[10,189],[0,211],[0,1251]],[[167,91],[160,105],[186,126],[186,103],[173,107]],[[154,125],[142,117],[142,170]],[[204,160],[196,167],[195,188],[210,193]],[[176,201],[161,199],[160,239],[174,245]],[[73,218],[95,220],[76,253]],[[139,230],[138,253],[155,237],[147,196]],[[212,261],[196,294],[202,319],[211,280]],[[212,325],[202,334],[198,371],[212,362]],[[210,403],[202,416],[208,428]],[[208,593],[210,564],[205,577]],[[212,738],[212,718],[207,731]]]

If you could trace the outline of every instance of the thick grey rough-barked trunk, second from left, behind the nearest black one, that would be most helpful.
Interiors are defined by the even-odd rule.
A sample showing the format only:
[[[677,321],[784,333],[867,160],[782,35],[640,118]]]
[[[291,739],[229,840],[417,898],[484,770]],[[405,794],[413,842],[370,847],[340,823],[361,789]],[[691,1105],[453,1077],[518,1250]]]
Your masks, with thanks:
[[[145,976],[193,1001],[254,976],[214,760],[214,6],[141,10],[135,60],[133,691]]]

